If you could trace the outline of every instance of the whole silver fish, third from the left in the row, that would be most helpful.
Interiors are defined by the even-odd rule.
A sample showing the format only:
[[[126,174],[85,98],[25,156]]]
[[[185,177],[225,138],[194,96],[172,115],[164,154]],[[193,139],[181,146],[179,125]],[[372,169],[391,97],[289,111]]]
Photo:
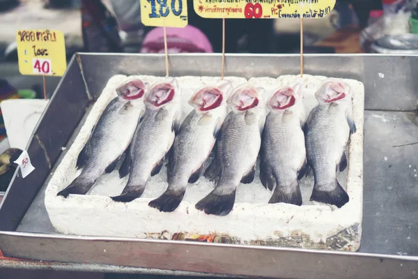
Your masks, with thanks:
[[[183,200],[187,183],[199,179],[228,113],[224,97],[231,89],[231,82],[205,86],[189,99],[194,110],[183,121],[173,143],[167,173],[169,186],[160,197],[149,202],[150,207],[174,211]]]

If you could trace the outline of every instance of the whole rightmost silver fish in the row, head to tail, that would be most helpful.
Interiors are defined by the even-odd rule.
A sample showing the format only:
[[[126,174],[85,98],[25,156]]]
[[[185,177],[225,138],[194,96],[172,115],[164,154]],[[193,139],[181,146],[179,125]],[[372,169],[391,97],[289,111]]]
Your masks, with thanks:
[[[336,179],[347,167],[344,149],[356,132],[350,86],[328,79],[315,93],[318,105],[310,112],[304,128],[307,163],[314,171],[311,201],[341,208],[350,197]]]

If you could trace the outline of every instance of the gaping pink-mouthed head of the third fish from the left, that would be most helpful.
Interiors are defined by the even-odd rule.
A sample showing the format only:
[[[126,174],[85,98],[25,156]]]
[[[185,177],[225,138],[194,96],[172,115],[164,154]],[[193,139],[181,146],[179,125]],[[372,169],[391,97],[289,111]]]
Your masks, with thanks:
[[[224,96],[222,91],[215,86],[206,86],[192,96],[189,100],[189,104],[194,107],[195,110],[200,112],[207,112],[213,110],[222,104]]]

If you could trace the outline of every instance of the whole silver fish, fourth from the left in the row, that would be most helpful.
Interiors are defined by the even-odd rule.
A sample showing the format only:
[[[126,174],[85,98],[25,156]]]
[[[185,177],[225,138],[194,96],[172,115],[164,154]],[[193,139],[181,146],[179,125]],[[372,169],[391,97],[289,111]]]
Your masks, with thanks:
[[[215,164],[212,169],[219,179],[215,189],[196,204],[196,209],[206,214],[226,216],[233,209],[239,184],[254,180],[265,122],[264,91],[263,88],[242,84],[229,97],[232,110],[222,125],[212,162]]]

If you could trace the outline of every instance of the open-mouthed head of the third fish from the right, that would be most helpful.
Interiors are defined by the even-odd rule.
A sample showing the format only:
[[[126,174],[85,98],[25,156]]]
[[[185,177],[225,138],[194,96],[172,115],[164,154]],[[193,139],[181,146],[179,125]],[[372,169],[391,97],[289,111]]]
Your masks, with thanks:
[[[258,105],[260,92],[254,86],[239,86],[228,99],[229,106],[238,112],[245,112]]]

